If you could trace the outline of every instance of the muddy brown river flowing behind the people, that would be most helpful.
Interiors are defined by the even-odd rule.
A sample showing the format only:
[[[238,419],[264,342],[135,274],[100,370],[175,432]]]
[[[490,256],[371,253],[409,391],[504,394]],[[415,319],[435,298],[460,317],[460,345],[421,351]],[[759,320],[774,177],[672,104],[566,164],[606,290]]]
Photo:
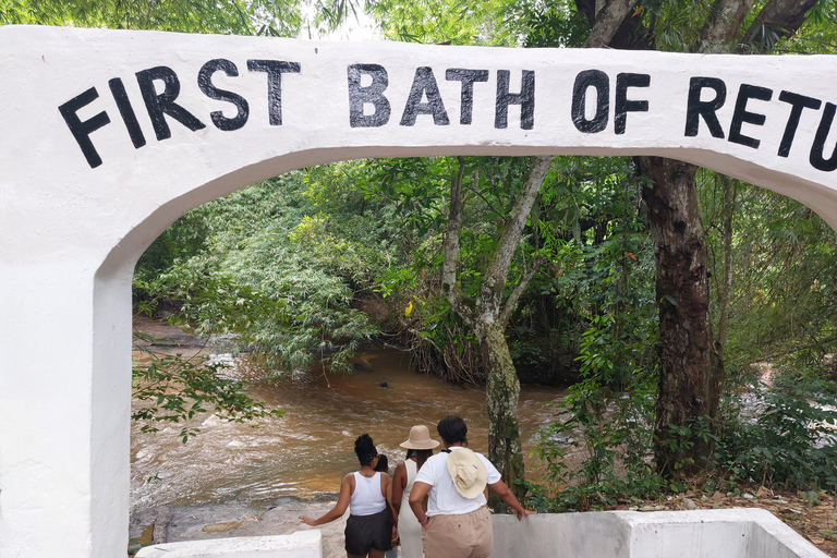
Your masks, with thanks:
[[[171,331],[158,329],[158,336]],[[132,510],[229,501],[266,507],[281,497],[335,493],[343,475],[357,466],[353,451],[357,436],[373,437],[378,451],[389,457],[391,473],[404,458],[399,444],[410,427],[427,424],[437,438],[435,425],[448,414],[462,416],[471,448],[487,453],[482,389],[453,387],[416,374],[408,354],[396,349],[357,356],[368,362],[368,369],[342,376],[315,367],[268,383],[265,369],[250,355],[216,354],[229,364],[227,375],[254,384],[251,397],[286,414],[255,424],[202,415],[193,421],[201,434],[187,444],[181,442],[178,425],[146,434],[132,424]],[[518,414],[526,454],[538,430],[554,418],[549,403],[561,397],[558,388],[522,388]],[[526,473],[534,480],[543,474],[537,458],[526,457]]]

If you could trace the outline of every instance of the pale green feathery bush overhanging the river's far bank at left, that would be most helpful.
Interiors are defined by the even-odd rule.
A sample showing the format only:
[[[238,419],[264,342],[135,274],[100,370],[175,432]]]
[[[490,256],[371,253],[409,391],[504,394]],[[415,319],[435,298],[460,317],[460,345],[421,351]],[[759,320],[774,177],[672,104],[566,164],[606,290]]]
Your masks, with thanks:
[[[386,221],[318,215],[304,178],[286,174],[198,208],[201,219],[184,216],[174,229],[199,223],[203,246],[175,259],[153,290],[180,301],[198,333],[238,333],[278,372],[315,357],[351,372],[353,351],[378,331],[352,305],[388,265]]]

